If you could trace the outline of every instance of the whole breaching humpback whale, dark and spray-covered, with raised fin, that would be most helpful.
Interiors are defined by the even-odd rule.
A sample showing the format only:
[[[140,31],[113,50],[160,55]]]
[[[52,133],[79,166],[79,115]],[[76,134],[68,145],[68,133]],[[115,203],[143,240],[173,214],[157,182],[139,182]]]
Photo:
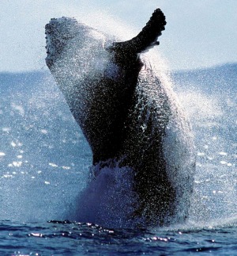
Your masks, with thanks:
[[[157,9],[122,42],[74,18],[46,25],[47,67],[88,140],[93,165],[131,168],[138,199],[127,218],[145,225],[186,220],[194,185],[190,124],[171,81],[149,59],[165,25]]]

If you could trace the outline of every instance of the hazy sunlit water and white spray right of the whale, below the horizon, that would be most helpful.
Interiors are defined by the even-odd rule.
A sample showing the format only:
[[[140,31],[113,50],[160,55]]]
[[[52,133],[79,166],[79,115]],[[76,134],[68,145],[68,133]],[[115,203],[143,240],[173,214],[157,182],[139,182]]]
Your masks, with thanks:
[[[236,65],[179,72],[174,79],[198,151],[190,220],[236,220]]]

